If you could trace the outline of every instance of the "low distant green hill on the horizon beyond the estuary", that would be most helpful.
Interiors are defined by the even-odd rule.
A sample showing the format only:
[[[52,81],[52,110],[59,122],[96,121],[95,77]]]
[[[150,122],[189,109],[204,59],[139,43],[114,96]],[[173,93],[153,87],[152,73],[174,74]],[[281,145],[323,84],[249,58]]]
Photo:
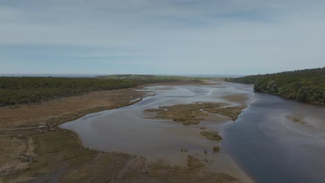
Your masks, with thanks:
[[[155,76],[155,75],[136,75],[136,74],[115,74],[108,76],[97,76],[99,79],[128,79],[128,80],[185,80],[183,76]]]

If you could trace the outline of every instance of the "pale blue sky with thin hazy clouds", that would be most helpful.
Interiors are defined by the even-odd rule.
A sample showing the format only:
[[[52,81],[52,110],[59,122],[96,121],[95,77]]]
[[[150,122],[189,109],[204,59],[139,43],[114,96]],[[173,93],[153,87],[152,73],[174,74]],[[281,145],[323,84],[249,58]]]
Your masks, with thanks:
[[[324,0],[0,0],[0,74],[324,66]]]

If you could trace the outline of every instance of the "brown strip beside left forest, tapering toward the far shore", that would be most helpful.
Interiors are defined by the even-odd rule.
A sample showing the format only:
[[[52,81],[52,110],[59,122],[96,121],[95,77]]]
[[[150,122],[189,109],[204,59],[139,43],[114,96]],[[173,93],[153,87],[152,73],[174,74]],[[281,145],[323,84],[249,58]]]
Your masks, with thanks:
[[[86,114],[94,113],[94,112],[101,112],[104,110],[113,110],[119,107],[126,107],[128,105],[133,105],[137,102],[134,101],[138,98],[144,98],[147,97],[143,92],[137,91],[138,89],[143,89],[144,87],[147,86],[152,86],[152,85],[205,85],[204,82],[199,82],[197,80],[181,80],[178,82],[162,82],[162,83],[150,83],[150,84],[144,84],[144,85],[139,85],[137,87],[133,88],[126,88],[126,89],[113,89],[113,90],[103,90],[103,91],[95,91],[95,92],[90,92],[87,94],[83,95],[78,95],[78,96],[70,96],[70,97],[65,97],[65,98],[59,98],[57,100],[52,100],[52,101],[46,101],[44,103],[31,103],[31,104],[25,104],[25,105],[18,105],[15,108],[12,108],[12,106],[3,106],[0,107],[0,129],[2,130],[3,125],[6,126],[6,121],[18,121],[18,125],[12,125],[9,124],[8,127],[17,127],[17,128],[33,128],[38,125],[33,125],[28,124],[28,120],[31,118],[37,121],[39,123],[51,123],[51,122],[56,122],[56,125],[68,122],[68,121],[73,121],[74,119],[81,118],[82,116],[85,116]],[[116,98],[112,97],[111,95],[115,95]],[[107,101],[103,101],[103,99],[108,98]],[[122,100],[117,100],[122,98]],[[126,98],[129,98],[129,101],[125,101]],[[113,99],[113,100],[110,100]],[[78,101],[83,101],[83,100],[90,100],[92,103],[78,103]],[[124,100],[124,101],[123,101]],[[121,104],[122,103],[122,104]],[[53,104],[53,105],[51,105]],[[44,107],[49,107],[50,109],[47,108],[42,108]],[[62,110],[62,108],[58,107],[58,105],[68,105],[67,107],[71,107],[69,105],[74,105],[73,109],[67,109],[67,110]],[[80,106],[82,105],[82,106]],[[90,106],[89,106],[90,105]],[[42,107],[41,107],[42,106]],[[29,108],[29,109],[28,109]],[[54,108],[54,109],[51,109]],[[21,116],[20,119],[16,118],[13,119],[10,112],[15,111],[16,113],[23,113],[23,112],[28,112],[28,110],[31,110],[31,112],[34,112],[36,110],[46,110],[50,111],[51,113],[49,114],[24,114],[24,116]],[[18,111],[18,112],[17,112]],[[68,114],[68,113],[74,113],[74,114]],[[62,117],[65,114],[65,119],[56,119],[56,117]],[[43,116],[47,116],[47,119],[42,118]],[[38,119],[40,118],[40,119]],[[27,123],[27,124],[25,124]],[[6,130],[6,129],[4,129]]]

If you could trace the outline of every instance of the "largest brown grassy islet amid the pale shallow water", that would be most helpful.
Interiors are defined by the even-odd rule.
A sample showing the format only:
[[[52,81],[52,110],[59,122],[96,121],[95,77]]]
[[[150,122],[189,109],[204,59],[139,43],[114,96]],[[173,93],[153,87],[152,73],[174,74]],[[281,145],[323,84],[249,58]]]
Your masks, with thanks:
[[[225,107],[226,103],[190,103],[147,109],[145,112],[156,112],[156,119],[172,119],[183,125],[197,125],[204,120],[208,112],[230,117],[233,121],[247,106]],[[226,121],[227,119],[225,119]]]

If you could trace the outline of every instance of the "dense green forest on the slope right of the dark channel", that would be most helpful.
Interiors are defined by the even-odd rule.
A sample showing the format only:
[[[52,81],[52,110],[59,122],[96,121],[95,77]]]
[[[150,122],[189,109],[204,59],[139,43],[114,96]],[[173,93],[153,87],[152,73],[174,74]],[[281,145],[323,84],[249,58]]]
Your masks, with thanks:
[[[325,67],[228,78],[227,81],[254,84],[256,92],[267,92],[303,102],[325,103]]]

